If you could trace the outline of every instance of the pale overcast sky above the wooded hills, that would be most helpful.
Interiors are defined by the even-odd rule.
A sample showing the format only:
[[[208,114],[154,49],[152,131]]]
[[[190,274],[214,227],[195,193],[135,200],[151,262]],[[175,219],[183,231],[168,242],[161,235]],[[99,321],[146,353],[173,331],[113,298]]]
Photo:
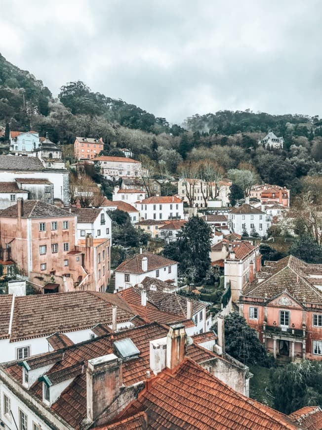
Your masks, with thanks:
[[[322,115],[320,0],[1,0],[0,52],[53,94],[81,80],[170,122]]]

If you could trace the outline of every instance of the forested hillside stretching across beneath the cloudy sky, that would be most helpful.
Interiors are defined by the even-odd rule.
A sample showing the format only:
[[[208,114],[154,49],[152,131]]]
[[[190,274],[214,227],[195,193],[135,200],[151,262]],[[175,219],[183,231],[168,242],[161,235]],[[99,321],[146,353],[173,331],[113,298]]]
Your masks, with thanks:
[[[256,180],[286,185],[300,192],[302,178],[321,174],[322,121],[318,116],[270,115],[219,111],[194,115],[183,126],[123,100],[94,93],[78,81],[61,87],[53,99],[29,72],[0,56],[0,125],[15,130],[47,131],[60,141],[66,160],[73,162],[76,135],[103,137],[104,154],[119,154],[129,147],[159,178],[250,170]],[[285,140],[283,150],[267,151],[258,137],[269,129]],[[2,138],[3,140],[3,138]],[[209,170],[209,163],[211,169]],[[206,165],[207,164],[207,168]]]

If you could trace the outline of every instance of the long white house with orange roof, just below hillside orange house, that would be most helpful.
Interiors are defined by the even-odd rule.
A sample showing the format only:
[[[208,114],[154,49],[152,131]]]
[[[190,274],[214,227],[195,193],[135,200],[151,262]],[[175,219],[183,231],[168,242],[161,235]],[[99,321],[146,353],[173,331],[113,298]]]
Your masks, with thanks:
[[[101,168],[105,179],[118,180],[120,177],[135,178],[142,174],[140,161],[126,157],[109,157],[102,155],[95,158],[95,164]]]

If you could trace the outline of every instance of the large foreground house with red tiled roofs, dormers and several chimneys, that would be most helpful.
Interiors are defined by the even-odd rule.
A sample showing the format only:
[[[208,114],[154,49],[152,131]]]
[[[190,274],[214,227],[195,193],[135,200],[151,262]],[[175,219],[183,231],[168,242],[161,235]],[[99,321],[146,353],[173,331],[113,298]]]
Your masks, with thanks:
[[[152,323],[6,363],[1,420],[33,430],[319,429],[321,408],[286,416],[250,401],[214,376],[237,380],[236,367],[186,344],[183,325]]]

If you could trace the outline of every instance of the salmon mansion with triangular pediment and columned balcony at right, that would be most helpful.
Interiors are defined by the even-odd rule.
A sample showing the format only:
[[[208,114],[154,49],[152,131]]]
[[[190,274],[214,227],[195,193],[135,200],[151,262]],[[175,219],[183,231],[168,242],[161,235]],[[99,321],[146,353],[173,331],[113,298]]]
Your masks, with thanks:
[[[238,304],[275,358],[322,360],[322,264],[265,261]]]

